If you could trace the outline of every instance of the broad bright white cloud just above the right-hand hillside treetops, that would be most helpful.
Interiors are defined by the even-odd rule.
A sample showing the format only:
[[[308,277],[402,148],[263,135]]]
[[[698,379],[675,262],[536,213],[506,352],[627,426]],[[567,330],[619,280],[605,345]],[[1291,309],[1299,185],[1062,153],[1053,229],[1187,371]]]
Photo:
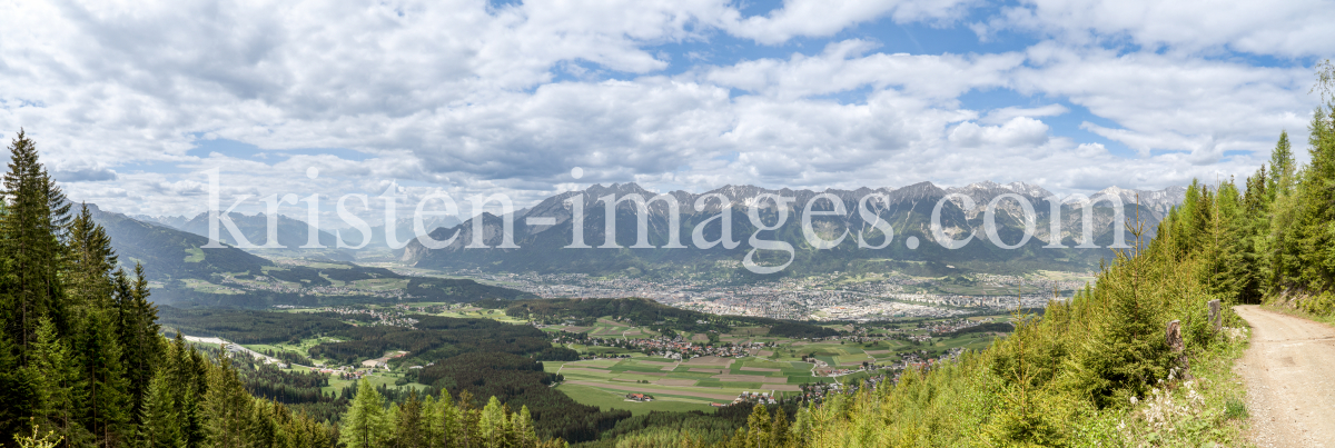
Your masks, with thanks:
[[[1200,151],[1208,141],[1246,141],[1263,149],[1280,129],[1300,131],[1311,104],[1303,68],[1040,44],[1016,69],[1020,92],[1067,97],[1119,128],[1081,128],[1140,155]]]

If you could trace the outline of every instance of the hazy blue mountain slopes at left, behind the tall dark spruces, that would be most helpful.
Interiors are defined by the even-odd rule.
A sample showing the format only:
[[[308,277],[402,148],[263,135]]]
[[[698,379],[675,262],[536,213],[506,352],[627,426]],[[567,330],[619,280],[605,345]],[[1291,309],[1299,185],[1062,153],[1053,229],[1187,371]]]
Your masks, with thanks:
[[[93,221],[107,231],[112,249],[124,268],[144,267],[154,285],[154,300],[174,305],[259,307],[275,304],[328,305],[413,297],[426,301],[477,301],[482,299],[523,299],[521,291],[481,284],[469,279],[405,276],[384,268],[366,268],[354,263],[330,260],[326,252],[299,248],[251,249],[263,255],[306,253],[323,263],[278,265],[270,259],[231,244],[210,248],[208,237],[172,228],[160,220],[140,220],[87,204]],[[251,243],[263,243],[264,216],[236,216],[238,228]],[[258,219],[256,219],[258,217]],[[178,221],[192,228],[192,220]],[[306,224],[280,219],[279,240],[304,243]],[[298,223],[300,225],[295,225]],[[286,224],[286,225],[283,225]],[[259,232],[255,232],[255,228]],[[195,225],[194,228],[199,228]],[[288,232],[283,235],[283,232]],[[200,233],[207,233],[207,224]],[[226,235],[227,232],[222,232]],[[320,232],[323,241],[327,233]],[[252,237],[259,235],[259,240]],[[331,237],[331,236],[330,236]],[[332,244],[332,243],[330,243]],[[275,252],[287,251],[287,252]],[[304,264],[304,265],[303,265]],[[367,284],[362,284],[367,283]],[[324,291],[308,289],[324,287]],[[330,291],[332,287],[335,289]],[[395,296],[392,289],[402,289]]]

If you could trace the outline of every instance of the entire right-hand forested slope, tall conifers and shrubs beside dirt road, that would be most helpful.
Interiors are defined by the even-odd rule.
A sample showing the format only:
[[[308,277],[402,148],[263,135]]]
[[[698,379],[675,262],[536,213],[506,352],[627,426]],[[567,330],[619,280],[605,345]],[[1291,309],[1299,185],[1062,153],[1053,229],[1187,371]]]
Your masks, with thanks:
[[[1240,444],[1247,411],[1230,371],[1244,332],[1230,327],[1244,324],[1228,307],[1335,312],[1332,115],[1335,103],[1312,116],[1308,164],[1282,133],[1242,188],[1232,179],[1192,184],[1157,235],[1117,253],[1097,287],[1019,316],[991,349],[906,371],[893,387],[837,396],[792,421],[757,408],[726,445]],[[1223,305],[1219,327],[1211,300]]]

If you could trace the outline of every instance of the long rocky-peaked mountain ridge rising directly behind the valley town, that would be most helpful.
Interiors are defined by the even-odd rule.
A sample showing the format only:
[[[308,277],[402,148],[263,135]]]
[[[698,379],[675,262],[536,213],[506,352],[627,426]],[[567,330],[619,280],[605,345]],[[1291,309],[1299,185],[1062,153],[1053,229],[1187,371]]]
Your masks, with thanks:
[[[443,240],[458,232],[458,237],[454,244],[441,249],[427,249],[418,241],[413,241],[402,252],[400,260],[419,267],[433,268],[486,267],[487,269],[502,271],[574,272],[594,275],[619,272],[631,268],[639,271],[704,269],[705,267],[714,267],[718,263],[737,261],[746,253],[746,251],[750,249],[745,244],[732,251],[721,248],[708,251],[696,248],[673,251],[621,249],[615,253],[610,253],[598,249],[563,249],[563,247],[569,245],[571,240],[571,201],[574,197],[582,197],[585,204],[585,243],[590,245],[601,245],[603,241],[602,227],[605,221],[605,205],[599,203],[598,199],[607,195],[621,197],[629,193],[638,193],[645,199],[658,195],[649,192],[634,183],[611,184],[606,187],[595,184],[582,191],[562,192],[539,201],[529,209],[515,213],[514,240],[521,247],[519,249],[465,249],[463,247],[473,241],[473,225],[470,223],[462,223],[450,228],[438,228],[431,232],[431,237],[437,240]],[[1112,255],[1107,247],[1113,243],[1113,232],[1123,231],[1120,223],[1113,223],[1113,207],[1111,207],[1107,200],[1101,199],[1120,199],[1124,204],[1124,213],[1127,219],[1136,215],[1136,204],[1139,200],[1139,211],[1141,212],[1140,216],[1145,221],[1147,227],[1153,229],[1155,225],[1167,216],[1168,211],[1173,205],[1181,203],[1185,196],[1185,188],[1171,187],[1161,191],[1137,191],[1109,187],[1101,192],[1089,195],[1096,200],[1101,200],[1093,203],[1092,209],[1093,241],[1095,244],[1103,247],[1100,249],[1073,248],[1075,245],[1084,243],[1081,215],[1085,204],[1065,197],[1056,197],[1053,193],[1041,187],[1020,181],[1009,184],[981,181],[952,188],[941,188],[924,181],[893,189],[873,189],[864,187],[852,191],[830,188],[821,192],[789,188],[769,189],[756,185],[725,185],[704,193],[689,193],[684,191],[666,192],[663,195],[674,197],[681,205],[680,228],[682,233],[678,235],[680,241],[689,245],[692,229],[696,225],[704,224],[708,219],[722,211],[724,205],[717,200],[709,200],[701,209],[696,209],[697,199],[716,193],[728,199],[728,204],[732,207],[733,213],[733,235],[734,237],[742,240],[754,232],[754,228],[746,217],[746,208],[756,204],[758,196],[773,193],[785,197],[794,197],[796,201],[789,205],[792,213],[789,213],[786,225],[776,233],[778,239],[793,244],[794,248],[798,248],[800,253],[794,260],[794,271],[797,272],[857,269],[857,264],[866,260],[952,263],[967,265],[972,264],[975,267],[987,264],[993,268],[1004,268],[1007,264],[1011,264],[1011,268],[1020,269],[1091,269],[1097,267],[1100,259],[1105,259]],[[798,229],[800,216],[797,213],[802,211],[808,201],[817,195],[832,195],[844,203],[845,213],[842,216],[817,217],[813,220],[813,227],[817,233],[833,239],[837,237],[842,229],[849,229],[852,233],[870,228],[872,223],[865,223],[861,217],[858,201],[864,196],[872,193],[885,195],[885,197],[888,197],[889,201],[886,204],[877,204],[874,209],[870,209],[869,212],[880,216],[881,220],[890,223],[898,244],[890,244],[885,249],[878,251],[858,251],[856,247],[856,236],[853,235],[846,237],[842,244],[829,251],[816,251],[810,248],[809,244],[805,244],[802,232]],[[936,243],[929,227],[932,211],[939,201],[951,195],[967,196],[975,203],[975,207],[965,208],[964,201],[957,196],[952,196],[951,200],[944,203],[943,227],[945,233],[957,239],[963,239],[969,233],[976,235],[975,241],[965,248],[956,251],[947,251],[937,244],[929,244]],[[987,204],[1003,195],[1017,195],[1028,200],[1033,205],[1037,219],[1037,225],[1032,235],[1033,237],[1028,244],[1025,244],[1025,247],[1016,251],[999,249],[996,245],[991,244],[991,241],[987,241],[987,236],[981,228]],[[1051,229],[1052,201],[1056,201],[1056,205],[1061,209],[1063,232],[1060,239],[1063,244],[1072,248],[1041,248],[1049,240],[1048,233]],[[773,204],[769,201],[762,203],[761,208],[768,212],[773,212]],[[999,203],[997,208],[997,223],[999,227],[1001,227],[999,236],[1003,241],[1019,241],[1024,233],[1023,211],[1020,205],[1015,201],[1004,200]],[[633,245],[637,239],[634,207],[629,203],[623,203],[615,209],[617,241],[623,247]],[[821,201],[816,204],[814,209],[830,211],[832,205],[826,201]],[[527,225],[527,217],[543,217],[546,219],[545,221],[551,224]],[[482,231],[485,232],[483,240],[487,241],[489,245],[499,244],[503,231],[502,219],[490,213],[483,213],[481,220],[485,224],[482,227]],[[662,201],[650,203],[649,240],[653,245],[661,247],[669,240],[669,224],[668,205]],[[717,239],[720,233],[717,221],[710,223],[709,227],[706,227],[705,233],[710,240]],[[908,236],[913,236],[922,241],[922,248],[916,251],[906,249],[901,241],[904,241]]]

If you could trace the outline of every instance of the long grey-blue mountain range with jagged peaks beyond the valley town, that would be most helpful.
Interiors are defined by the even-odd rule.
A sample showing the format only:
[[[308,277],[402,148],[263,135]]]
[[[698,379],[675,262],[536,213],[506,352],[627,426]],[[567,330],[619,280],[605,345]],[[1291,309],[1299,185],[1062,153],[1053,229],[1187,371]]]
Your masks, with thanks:
[[[792,260],[784,269],[789,273],[896,268],[925,269],[932,275],[939,275],[951,269],[984,272],[1085,271],[1093,269],[1100,260],[1112,256],[1112,249],[1108,247],[1116,241],[1116,232],[1123,232],[1121,239],[1127,244],[1135,243],[1135,237],[1125,232],[1123,223],[1116,219],[1115,208],[1107,200],[1095,201],[1091,205],[1076,200],[1057,199],[1041,187],[1031,184],[985,181],[959,188],[940,188],[932,183],[918,183],[896,189],[860,188],[822,192],[788,188],[765,189],[754,185],[728,185],[705,193],[676,191],[666,195],[674,197],[680,204],[676,220],[678,223],[677,240],[688,248],[662,248],[670,243],[673,233],[672,211],[665,201],[650,201],[646,207],[649,212],[647,240],[650,245],[661,249],[630,248],[639,239],[635,223],[637,205],[630,201],[619,203],[614,208],[615,241],[621,248],[566,248],[571,245],[577,225],[582,225],[585,244],[603,245],[606,205],[598,199],[607,195],[621,199],[631,193],[641,195],[646,200],[657,196],[633,183],[610,187],[593,185],[582,191],[563,192],[514,213],[511,220],[513,240],[518,248],[467,248],[466,245],[471,244],[474,239],[474,225],[471,221],[466,221],[450,228],[438,228],[430,233],[435,240],[457,235],[453,244],[429,249],[414,240],[402,251],[399,260],[426,268],[485,268],[589,275],[627,271],[631,273],[678,275],[684,272],[717,272],[722,268],[722,271],[730,269],[748,277],[750,275],[741,272],[738,261],[745,260],[753,249],[748,240],[756,233],[761,240],[777,240],[792,245],[793,253],[790,255],[782,251],[758,251],[754,257],[758,264],[765,265],[782,265],[786,260]],[[697,227],[702,227],[701,235],[705,236],[705,240],[717,240],[722,233],[722,220],[716,219],[716,216],[724,211],[725,205],[716,199],[709,199],[697,207],[697,200],[712,195],[721,195],[726,199],[728,213],[732,219],[732,236],[741,243],[734,248],[716,245],[700,249],[692,245],[692,236]],[[768,200],[758,201],[761,195],[793,199],[792,203],[784,205],[782,212],[788,215],[788,220],[777,231],[760,231],[748,216],[749,207],[756,204],[765,225],[773,225],[777,221],[780,208]],[[840,244],[828,249],[813,247],[801,225],[801,215],[808,203],[818,195],[838,200],[842,209],[841,213],[834,213],[836,205],[829,200],[818,200],[812,204],[812,212],[824,212],[822,215],[825,215],[810,217],[812,231],[817,236],[824,240],[834,240],[840,235],[846,235]],[[868,195],[884,195],[884,201],[868,201],[868,219],[864,219],[861,200]],[[1017,244],[1027,233],[1025,215],[1019,201],[1000,200],[996,203],[997,241],[993,241],[984,228],[988,204],[1003,195],[1015,195],[1033,207],[1035,223],[1032,232],[1029,232],[1032,237],[1015,249],[1003,247]],[[1163,191],[1113,187],[1091,195],[1091,197],[1120,199],[1124,204],[1124,220],[1135,220],[1139,216],[1147,229],[1147,236],[1152,236],[1157,223],[1167,216],[1173,205],[1181,203],[1184,195],[1185,188],[1181,187]],[[964,197],[972,200],[973,205],[967,207]],[[577,203],[582,203],[582,223],[573,219]],[[957,249],[948,249],[940,244],[941,241],[930,229],[932,215],[939,203],[941,204],[944,236],[964,239],[968,235],[975,235],[969,244]],[[1052,233],[1053,205],[1060,213],[1059,239],[1067,248],[1044,248],[1049,244]],[[1077,248],[1077,245],[1087,243],[1081,227],[1083,213],[1087,208],[1093,224],[1091,240],[1097,248]],[[489,247],[499,245],[503,240],[505,220],[490,213],[475,219],[481,219],[483,241]],[[884,243],[882,232],[874,225],[878,220],[890,224],[893,229],[892,243],[881,249],[860,248],[858,235],[864,237],[865,244],[872,247]],[[910,240],[914,239],[918,245],[912,248]]]

